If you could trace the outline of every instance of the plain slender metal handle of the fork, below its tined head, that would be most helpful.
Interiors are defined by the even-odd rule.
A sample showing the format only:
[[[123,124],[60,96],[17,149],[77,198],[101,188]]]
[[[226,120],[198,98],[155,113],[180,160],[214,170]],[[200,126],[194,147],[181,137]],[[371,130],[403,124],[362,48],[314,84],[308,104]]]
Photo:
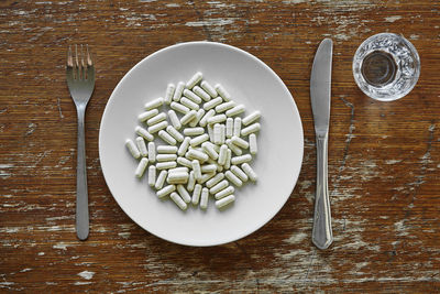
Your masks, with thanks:
[[[77,107],[78,154],[76,166],[76,236],[79,240],[86,240],[89,236],[89,199],[87,193],[86,143],[84,130],[85,112],[85,107]]]

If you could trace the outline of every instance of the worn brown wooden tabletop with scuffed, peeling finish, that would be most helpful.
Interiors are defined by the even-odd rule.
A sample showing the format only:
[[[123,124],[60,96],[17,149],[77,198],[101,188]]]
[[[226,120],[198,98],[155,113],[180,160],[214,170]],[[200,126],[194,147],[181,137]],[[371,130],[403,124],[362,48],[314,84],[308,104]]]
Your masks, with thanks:
[[[2,1],[0,3],[0,291],[440,291],[440,4],[438,1]],[[352,57],[367,36],[417,47],[416,88],[367,98]],[[311,62],[334,41],[329,187],[334,243],[311,244],[316,151]],[[289,200],[237,242],[189,248],[138,227],[117,205],[98,156],[99,124],[122,76],[179,42],[241,47],[295,97],[305,134]],[[96,53],[86,117],[90,237],[75,236],[76,111],[66,87],[69,44]]]

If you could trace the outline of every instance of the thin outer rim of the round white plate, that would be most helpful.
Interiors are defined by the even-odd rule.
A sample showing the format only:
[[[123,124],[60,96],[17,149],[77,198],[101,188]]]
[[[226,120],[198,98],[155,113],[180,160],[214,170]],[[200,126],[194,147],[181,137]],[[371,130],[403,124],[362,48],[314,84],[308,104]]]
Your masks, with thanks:
[[[116,95],[117,91],[119,91],[119,88],[122,87],[123,81],[124,81],[127,78],[129,78],[129,76],[131,75],[131,73],[134,72],[138,67],[140,67],[143,63],[147,62],[147,61],[151,59],[151,58],[154,58],[155,55],[158,55],[158,54],[161,54],[161,53],[164,52],[164,51],[173,50],[173,48],[180,47],[180,46],[199,45],[199,44],[200,44],[200,45],[209,44],[209,45],[215,45],[215,46],[227,47],[228,50],[232,50],[232,51],[242,53],[242,54],[244,54],[244,55],[251,57],[254,62],[258,63],[258,64],[262,65],[264,68],[266,68],[270,73],[272,73],[272,75],[278,80],[278,83],[280,84],[280,86],[284,87],[285,90],[286,90],[286,92],[290,96],[292,99],[289,99],[289,104],[290,104],[290,106],[292,106],[292,108],[293,108],[293,110],[294,110],[294,113],[293,113],[293,115],[295,115],[295,113],[297,115],[298,122],[299,122],[299,126],[298,126],[298,127],[299,127],[299,130],[300,130],[300,131],[299,131],[299,134],[300,134],[300,138],[299,138],[299,139],[300,139],[300,140],[299,140],[299,141],[300,141],[300,154],[299,154],[299,156],[298,156],[298,161],[300,162],[300,164],[299,164],[298,173],[295,175],[295,178],[293,178],[293,181],[290,182],[290,183],[292,183],[292,184],[290,184],[292,188],[290,188],[290,194],[289,194],[289,196],[287,196],[286,199],[285,199],[284,202],[280,203],[279,207],[276,209],[276,211],[275,211],[272,216],[270,216],[267,219],[264,219],[263,221],[260,221],[260,224],[262,224],[262,225],[258,225],[258,226],[256,226],[255,228],[252,228],[252,229],[249,230],[249,231],[239,233],[238,237],[235,237],[235,238],[232,239],[232,240],[223,240],[223,241],[220,241],[220,242],[217,241],[217,242],[206,242],[206,243],[191,242],[191,241],[182,242],[182,241],[172,240],[172,239],[169,239],[169,238],[167,238],[167,237],[158,236],[157,233],[154,233],[154,232],[150,231],[148,229],[144,228],[141,224],[139,224],[136,220],[134,220],[134,219],[130,216],[130,214],[123,208],[123,206],[120,204],[120,202],[118,200],[118,198],[113,195],[113,193],[112,193],[112,190],[111,190],[111,188],[110,188],[109,182],[108,182],[108,179],[107,179],[107,177],[106,177],[105,171],[103,171],[103,168],[102,168],[102,156],[101,156],[101,155],[102,155],[101,153],[103,152],[103,151],[102,151],[102,148],[103,148],[103,146],[102,146],[102,140],[103,140],[103,139],[102,139],[102,124],[103,124],[102,122],[105,121],[106,115],[107,115],[108,111],[109,111],[109,110],[108,110],[108,109],[109,109],[109,108],[108,108],[108,105],[111,102],[112,99],[116,99],[116,96],[114,96],[114,95]],[[108,115],[107,115],[107,116],[108,116]],[[114,87],[114,89],[112,90],[112,92],[111,92],[109,99],[108,99],[107,102],[106,102],[106,107],[105,107],[105,110],[103,110],[103,112],[102,112],[102,117],[101,117],[101,120],[100,120],[100,124],[99,124],[99,139],[98,139],[98,152],[99,152],[99,163],[100,163],[100,166],[101,166],[102,176],[103,176],[103,178],[105,178],[106,185],[107,185],[107,187],[108,187],[108,189],[109,189],[111,196],[112,196],[113,199],[117,202],[118,206],[122,209],[122,211],[124,211],[124,214],[125,214],[134,224],[136,224],[139,227],[141,227],[143,230],[147,231],[148,233],[151,233],[151,235],[153,235],[153,236],[155,236],[155,237],[157,237],[157,238],[160,238],[160,239],[162,239],[162,240],[166,240],[166,241],[168,241],[168,242],[175,243],[175,244],[188,246],[188,247],[215,247],[215,246],[227,244],[227,243],[230,243],[230,242],[234,242],[234,241],[241,240],[241,239],[243,239],[243,238],[245,238],[245,237],[248,237],[248,236],[250,236],[250,235],[256,232],[257,230],[260,230],[260,229],[262,229],[264,226],[266,226],[266,225],[280,211],[280,209],[286,205],[286,203],[287,203],[288,199],[290,198],[292,193],[294,192],[294,189],[295,189],[295,187],[296,187],[296,184],[298,183],[298,178],[299,178],[299,175],[300,175],[301,168],[302,168],[302,161],[304,161],[304,128],[302,128],[301,116],[300,116],[299,110],[298,110],[298,107],[297,107],[297,105],[296,105],[296,102],[295,102],[294,96],[292,95],[290,90],[287,88],[287,86],[286,86],[286,84],[283,81],[283,79],[282,79],[282,78],[275,73],[275,70],[272,69],[266,63],[264,63],[262,59],[260,59],[258,57],[256,57],[256,56],[253,55],[252,53],[249,53],[249,52],[246,52],[246,51],[244,51],[244,50],[242,50],[242,48],[239,48],[239,47],[235,47],[235,46],[232,46],[232,45],[229,45],[229,44],[219,43],[219,42],[211,42],[211,41],[190,41],[190,42],[183,42],[183,43],[177,43],[177,44],[174,44],[174,45],[169,45],[169,46],[166,46],[166,47],[163,47],[163,48],[161,48],[161,50],[157,50],[157,51],[153,52],[152,54],[150,54],[150,55],[145,56],[144,58],[142,58],[141,61],[139,61],[134,66],[132,66],[132,67],[124,74],[124,76],[118,81],[117,86]]]

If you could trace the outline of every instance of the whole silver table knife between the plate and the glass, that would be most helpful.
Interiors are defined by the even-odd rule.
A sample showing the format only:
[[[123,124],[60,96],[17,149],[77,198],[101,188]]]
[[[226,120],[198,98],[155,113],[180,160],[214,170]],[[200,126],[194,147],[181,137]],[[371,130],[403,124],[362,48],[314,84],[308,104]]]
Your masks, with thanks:
[[[310,77],[310,100],[317,143],[317,188],[311,240],[319,249],[327,249],[333,242],[327,179],[332,52],[331,39],[322,40],[315,55]]]

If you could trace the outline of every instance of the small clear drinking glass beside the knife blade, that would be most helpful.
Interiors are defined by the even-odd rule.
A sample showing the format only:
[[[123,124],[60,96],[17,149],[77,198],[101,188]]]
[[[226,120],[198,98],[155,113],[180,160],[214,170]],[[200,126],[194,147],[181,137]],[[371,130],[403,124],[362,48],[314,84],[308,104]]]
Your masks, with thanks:
[[[407,95],[420,75],[420,58],[405,37],[381,33],[366,39],[353,57],[354,80],[365,95],[393,101]]]

